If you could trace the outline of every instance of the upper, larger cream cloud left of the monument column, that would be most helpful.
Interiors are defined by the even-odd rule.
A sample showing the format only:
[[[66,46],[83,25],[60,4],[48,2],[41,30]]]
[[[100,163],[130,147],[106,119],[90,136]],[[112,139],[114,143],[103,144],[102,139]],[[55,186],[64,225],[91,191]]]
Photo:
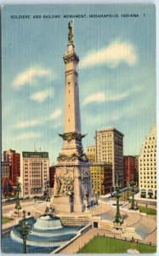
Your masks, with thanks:
[[[34,84],[39,78],[49,78],[50,70],[42,67],[33,67],[19,73],[14,79],[13,86],[20,88],[25,84]]]

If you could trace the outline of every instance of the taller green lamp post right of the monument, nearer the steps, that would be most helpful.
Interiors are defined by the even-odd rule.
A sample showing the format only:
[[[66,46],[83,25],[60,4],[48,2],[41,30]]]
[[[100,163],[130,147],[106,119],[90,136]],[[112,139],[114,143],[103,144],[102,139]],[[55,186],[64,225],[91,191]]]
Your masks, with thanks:
[[[119,198],[121,197],[120,189],[121,189],[121,185],[118,180],[118,175],[116,175],[116,185],[115,185],[115,191],[113,195],[114,197],[116,197],[116,216],[115,216],[115,219],[113,220],[113,223],[116,223],[116,224],[123,223],[122,216],[120,213],[120,207],[119,207]]]

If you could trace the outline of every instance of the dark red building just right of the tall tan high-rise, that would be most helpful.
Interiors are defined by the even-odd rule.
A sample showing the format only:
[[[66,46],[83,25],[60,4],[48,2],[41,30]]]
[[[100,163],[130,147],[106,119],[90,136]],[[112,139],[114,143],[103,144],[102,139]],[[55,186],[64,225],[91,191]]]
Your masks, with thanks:
[[[135,179],[135,157],[132,155],[124,155],[123,157],[123,168],[124,168],[124,187],[128,186],[128,183]]]

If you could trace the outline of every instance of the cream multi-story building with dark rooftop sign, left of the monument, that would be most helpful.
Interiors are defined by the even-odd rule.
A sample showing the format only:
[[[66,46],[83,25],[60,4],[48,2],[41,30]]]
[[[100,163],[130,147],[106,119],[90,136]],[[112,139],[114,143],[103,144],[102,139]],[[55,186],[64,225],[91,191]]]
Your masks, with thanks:
[[[48,152],[22,152],[23,197],[42,196],[49,179]]]

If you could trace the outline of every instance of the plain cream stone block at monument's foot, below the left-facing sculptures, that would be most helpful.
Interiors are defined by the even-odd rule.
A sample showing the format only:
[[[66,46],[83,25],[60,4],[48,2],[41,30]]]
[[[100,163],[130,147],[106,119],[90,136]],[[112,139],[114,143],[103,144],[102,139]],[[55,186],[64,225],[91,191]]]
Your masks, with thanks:
[[[54,209],[56,212],[73,212],[73,202],[71,195],[55,195]]]

